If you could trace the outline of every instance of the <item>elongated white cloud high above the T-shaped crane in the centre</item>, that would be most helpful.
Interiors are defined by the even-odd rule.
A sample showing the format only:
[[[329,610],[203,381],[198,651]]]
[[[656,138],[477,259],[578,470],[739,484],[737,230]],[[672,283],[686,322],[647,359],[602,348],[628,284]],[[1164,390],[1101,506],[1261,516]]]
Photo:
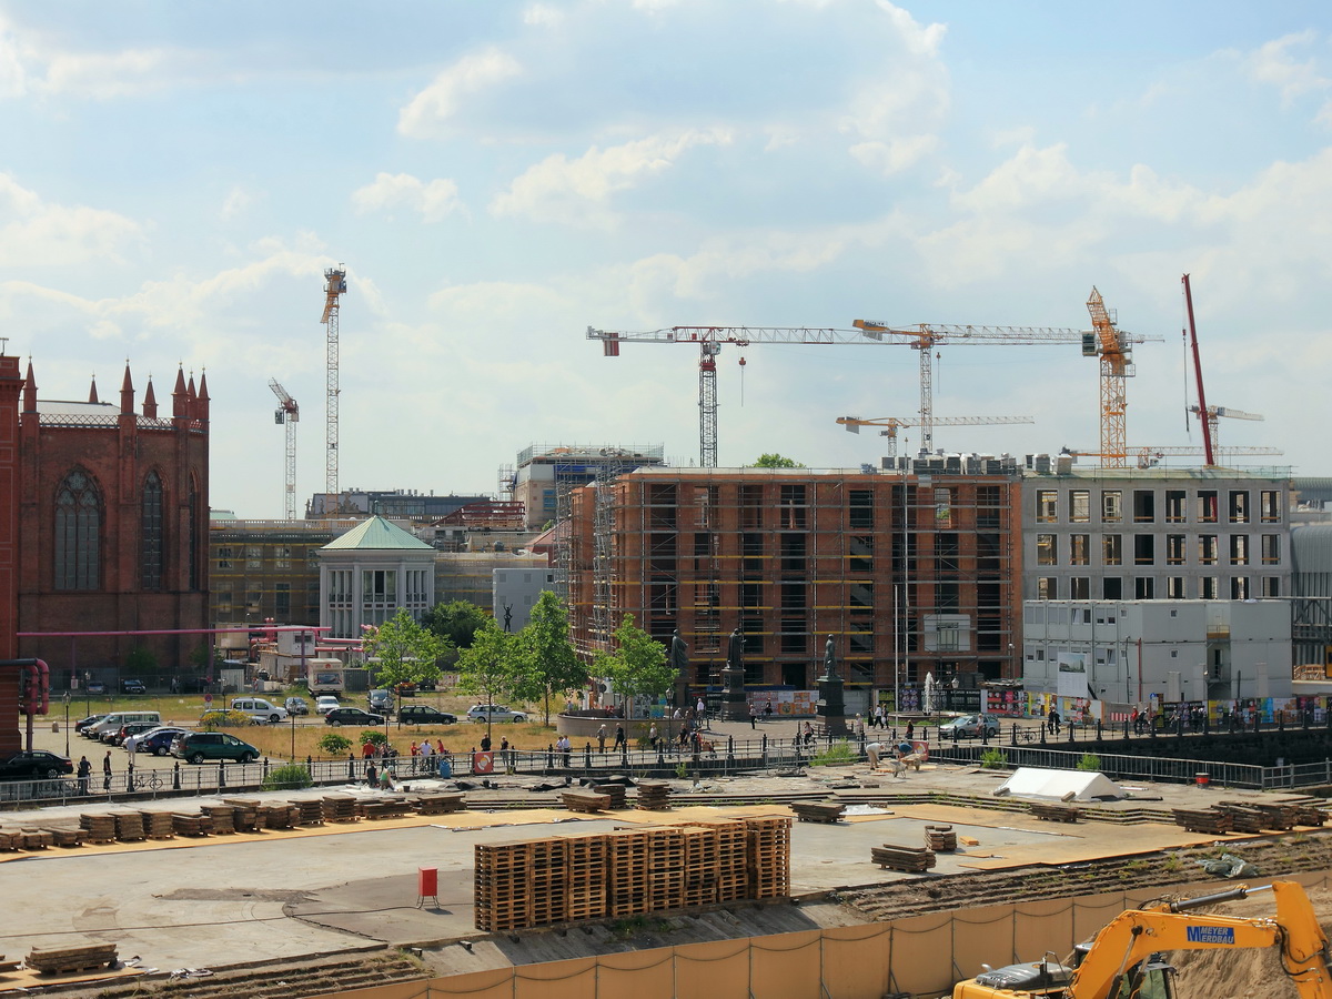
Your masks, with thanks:
[[[492,201],[490,210],[533,221],[609,226],[614,222],[609,209],[611,194],[665,173],[687,149],[730,141],[731,133],[726,129],[695,129],[607,149],[593,147],[577,160],[557,153],[515,178],[506,193]]]

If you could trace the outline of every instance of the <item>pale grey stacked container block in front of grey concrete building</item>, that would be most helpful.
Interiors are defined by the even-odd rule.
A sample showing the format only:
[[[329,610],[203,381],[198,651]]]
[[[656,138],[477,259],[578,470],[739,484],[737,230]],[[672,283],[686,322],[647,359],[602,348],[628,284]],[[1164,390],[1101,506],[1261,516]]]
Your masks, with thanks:
[[[1285,601],[1027,601],[1023,686],[1111,706],[1291,697]],[[1110,717],[1107,714],[1106,717]]]

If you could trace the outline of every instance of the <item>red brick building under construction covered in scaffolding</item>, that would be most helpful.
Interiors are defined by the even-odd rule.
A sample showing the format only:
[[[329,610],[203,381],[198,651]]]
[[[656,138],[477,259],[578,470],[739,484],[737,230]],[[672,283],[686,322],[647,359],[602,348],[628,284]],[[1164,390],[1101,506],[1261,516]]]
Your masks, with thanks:
[[[878,472],[641,468],[571,494],[570,630],[610,649],[625,614],[717,683],[727,635],[750,685],[809,690],[832,637],[851,710],[899,685],[1020,675],[1020,477],[1011,458]]]

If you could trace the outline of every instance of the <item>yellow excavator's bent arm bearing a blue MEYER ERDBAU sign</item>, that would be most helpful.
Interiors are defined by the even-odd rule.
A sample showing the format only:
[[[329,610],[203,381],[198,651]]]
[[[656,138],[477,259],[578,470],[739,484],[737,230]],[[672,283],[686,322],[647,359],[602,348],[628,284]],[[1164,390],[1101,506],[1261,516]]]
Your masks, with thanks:
[[[1236,888],[1219,895],[1130,910],[1103,928],[1068,986],[1071,999],[1111,999],[1116,980],[1156,951],[1280,947],[1281,964],[1301,999],[1332,999],[1328,942],[1308,896],[1295,882],[1273,882],[1275,919],[1241,919],[1189,910],[1244,898]]]

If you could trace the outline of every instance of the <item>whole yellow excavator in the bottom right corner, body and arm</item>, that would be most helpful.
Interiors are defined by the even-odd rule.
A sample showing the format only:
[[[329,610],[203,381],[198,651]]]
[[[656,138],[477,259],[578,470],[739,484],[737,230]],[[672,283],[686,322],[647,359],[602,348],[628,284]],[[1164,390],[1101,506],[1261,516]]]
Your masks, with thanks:
[[[1248,898],[1276,896],[1275,918],[1244,919],[1193,910]],[[986,968],[959,982],[952,999],[1175,999],[1173,975],[1163,951],[1279,947],[1281,967],[1300,999],[1332,999],[1328,940],[1308,895],[1297,882],[1239,886],[1215,895],[1152,902],[1120,912],[1068,963],[1051,959]]]

